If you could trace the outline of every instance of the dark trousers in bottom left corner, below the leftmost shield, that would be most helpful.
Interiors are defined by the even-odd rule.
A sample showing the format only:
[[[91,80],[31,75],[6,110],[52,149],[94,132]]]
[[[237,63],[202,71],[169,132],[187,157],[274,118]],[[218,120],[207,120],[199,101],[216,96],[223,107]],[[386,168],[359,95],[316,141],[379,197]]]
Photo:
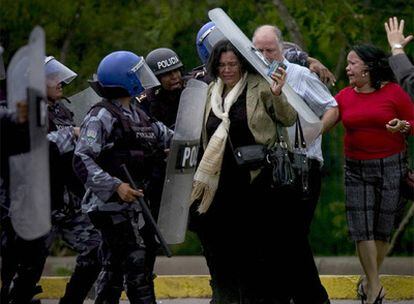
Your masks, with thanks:
[[[45,238],[32,241],[20,238],[10,219],[2,221],[1,303],[30,303],[46,262]],[[13,286],[11,289],[11,285]]]

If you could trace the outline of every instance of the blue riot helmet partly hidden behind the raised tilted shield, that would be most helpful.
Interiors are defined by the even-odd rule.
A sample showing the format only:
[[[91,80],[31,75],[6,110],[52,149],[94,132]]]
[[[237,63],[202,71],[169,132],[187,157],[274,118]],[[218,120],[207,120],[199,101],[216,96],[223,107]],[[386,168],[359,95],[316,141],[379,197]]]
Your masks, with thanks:
[[[213,47],[222,39],[225,37],[213,21],[207,22],[200,28],[197,33],[196,46],[198,57],[204,64],[206,64]]]

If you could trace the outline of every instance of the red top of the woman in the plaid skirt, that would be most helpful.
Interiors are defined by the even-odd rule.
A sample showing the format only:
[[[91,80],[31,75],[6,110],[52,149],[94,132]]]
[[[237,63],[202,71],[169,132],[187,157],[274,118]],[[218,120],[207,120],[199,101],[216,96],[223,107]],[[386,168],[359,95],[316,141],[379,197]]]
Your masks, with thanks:
[[[405,150],[404,135],[385,128],[393,118],[404,119],[410,122],[414,134],[414,104],[398,84],[388,83],[372,93],[346,87],[335,99],[345,127],[346,157],[378,159]]]

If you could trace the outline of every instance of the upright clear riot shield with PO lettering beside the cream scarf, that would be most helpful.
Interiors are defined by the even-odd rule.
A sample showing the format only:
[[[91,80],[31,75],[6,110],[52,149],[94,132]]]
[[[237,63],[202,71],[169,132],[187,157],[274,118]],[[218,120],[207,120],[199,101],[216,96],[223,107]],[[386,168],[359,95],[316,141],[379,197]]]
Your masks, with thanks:
[[[207,84],[190,79],[180,98],[158,215],[168,244],[184,242],[206,100]]]

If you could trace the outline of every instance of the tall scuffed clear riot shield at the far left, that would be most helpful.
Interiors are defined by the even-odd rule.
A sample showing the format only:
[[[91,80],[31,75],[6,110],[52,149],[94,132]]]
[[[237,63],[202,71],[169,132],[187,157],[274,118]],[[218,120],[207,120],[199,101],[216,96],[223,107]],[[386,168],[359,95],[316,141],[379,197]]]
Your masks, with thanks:
[[[30,150],[9,158],[10,217],[16,233],[26,240],[45,235],[51,227],[44,58],[45,34],[36,27],[7,70],[10,108],[27,102],[29,112]]]

